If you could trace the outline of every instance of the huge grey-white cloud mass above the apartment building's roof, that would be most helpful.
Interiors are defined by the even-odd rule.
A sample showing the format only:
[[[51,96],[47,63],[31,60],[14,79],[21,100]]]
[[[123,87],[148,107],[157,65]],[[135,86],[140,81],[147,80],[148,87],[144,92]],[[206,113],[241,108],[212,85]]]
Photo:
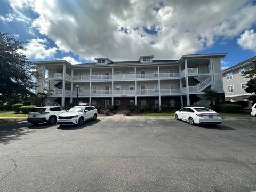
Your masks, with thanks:
[[[179,59],[213,45],[218,36],[235,37],[256,23],[256,6],[250,0],[164,0],[161,6],[155,0],[9,1],[17,14],[32,9],[38,17],[31,27],[58,49],[85,60],[151,54],[155,59]]]

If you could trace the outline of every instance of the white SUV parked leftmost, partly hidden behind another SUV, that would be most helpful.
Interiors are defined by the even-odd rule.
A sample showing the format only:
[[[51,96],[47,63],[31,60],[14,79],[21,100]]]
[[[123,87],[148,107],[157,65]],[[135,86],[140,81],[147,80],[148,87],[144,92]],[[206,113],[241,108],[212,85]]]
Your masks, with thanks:
[[[66,111],[65,108],[59,106],[35,107],[28,114],[28,122],[33,125],[44,122],[52,125],[56,123],[57,117]]]

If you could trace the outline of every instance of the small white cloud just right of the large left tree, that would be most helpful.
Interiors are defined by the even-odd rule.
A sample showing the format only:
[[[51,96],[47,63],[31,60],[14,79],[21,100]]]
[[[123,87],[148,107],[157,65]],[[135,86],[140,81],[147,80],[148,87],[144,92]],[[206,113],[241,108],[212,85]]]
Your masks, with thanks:
[[[35,59],[46,59],[52,58],[56,51],[58,50],[56,47],[47,48],[47,40],[34,38],[31,39],[26,45],[26,50],[22,50],[21,52],[26,55],[28,58]]]

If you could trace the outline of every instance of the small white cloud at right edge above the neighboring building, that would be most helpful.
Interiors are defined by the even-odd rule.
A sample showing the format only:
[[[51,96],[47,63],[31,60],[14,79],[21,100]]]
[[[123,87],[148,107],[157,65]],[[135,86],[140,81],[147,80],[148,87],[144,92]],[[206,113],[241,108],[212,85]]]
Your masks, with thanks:
[[[243,48],[256,52],[256,33],[254,30],[246,30],[237,39],[237,43]]]

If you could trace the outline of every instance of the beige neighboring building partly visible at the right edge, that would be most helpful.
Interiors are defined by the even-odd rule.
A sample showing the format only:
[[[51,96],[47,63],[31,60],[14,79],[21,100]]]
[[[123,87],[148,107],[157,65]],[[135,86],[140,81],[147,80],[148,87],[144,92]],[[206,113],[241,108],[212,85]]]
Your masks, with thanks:
[[[253,94],[245,92],[249,79],[243,73],[251,67],[253,60],[256,60],[256,56],[222,71],[225,101],[249,101],[248,98]]]

